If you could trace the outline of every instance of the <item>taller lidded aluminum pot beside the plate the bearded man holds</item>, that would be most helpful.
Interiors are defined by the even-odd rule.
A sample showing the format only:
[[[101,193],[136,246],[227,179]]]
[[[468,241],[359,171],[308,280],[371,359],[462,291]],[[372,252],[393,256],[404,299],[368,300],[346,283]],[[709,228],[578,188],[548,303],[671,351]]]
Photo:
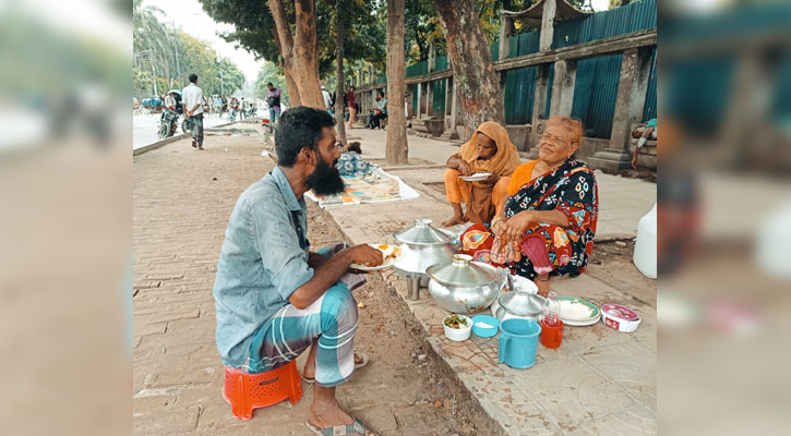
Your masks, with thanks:
[[[393,233],[402,242],[402,255],[394,266],[403,278],[420,277],[420,284],[428,286],[426,270],[436,264],[447,263],[456,254],[451,237],[431,226],[430,219],[416,219],[415,226]]]

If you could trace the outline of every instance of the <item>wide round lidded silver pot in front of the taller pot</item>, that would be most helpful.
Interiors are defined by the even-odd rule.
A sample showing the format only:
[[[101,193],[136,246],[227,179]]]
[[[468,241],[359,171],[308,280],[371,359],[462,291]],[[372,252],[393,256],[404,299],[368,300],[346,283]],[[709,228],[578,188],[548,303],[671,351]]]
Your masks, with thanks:
[[[457,254],[450,263],[429,267],[429,293],[440,307],[472,314],[496,300],[504,276],[491,265],[471,261],[471,256]]]

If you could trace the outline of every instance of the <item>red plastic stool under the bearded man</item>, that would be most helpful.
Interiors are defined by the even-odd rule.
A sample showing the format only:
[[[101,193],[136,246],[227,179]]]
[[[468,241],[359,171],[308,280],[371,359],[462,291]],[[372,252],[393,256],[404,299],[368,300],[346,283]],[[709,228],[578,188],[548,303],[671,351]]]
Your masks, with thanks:
[[[223,397],[230,403],[233,416],[240,420],[251,420],[253,409],[265,408],[286,398],[296,404],[302,398],[297,362],[291,361],[277,370],[260,374],[248,374],[226,366]]]

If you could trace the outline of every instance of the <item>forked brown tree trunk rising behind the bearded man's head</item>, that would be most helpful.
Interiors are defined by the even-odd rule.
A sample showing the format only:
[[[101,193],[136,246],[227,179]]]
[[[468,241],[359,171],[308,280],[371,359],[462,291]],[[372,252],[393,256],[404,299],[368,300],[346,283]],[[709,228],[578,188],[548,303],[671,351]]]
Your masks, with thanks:
[[[296,35],[292,36],[280,0],[267,0],[272,17],[275,20],[275,27],[277,27],[277,40],[280,45],[291,107],[303,105],[325,109],[319,82],[319,45],[316,44],[314,0],[297,0],[295,3],[297,24]]]

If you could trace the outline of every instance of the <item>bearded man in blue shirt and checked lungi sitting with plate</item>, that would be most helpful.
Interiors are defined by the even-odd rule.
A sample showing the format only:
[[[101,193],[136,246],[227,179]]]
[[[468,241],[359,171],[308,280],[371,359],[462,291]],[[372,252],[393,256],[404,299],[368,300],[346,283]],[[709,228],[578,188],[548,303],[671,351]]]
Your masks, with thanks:
[[[353,351],[351,295],[364,279],[349,266],[384,259],[367,244],[313,253],[307,238],[303,194],[344,191],[334,124],[326,111],[308,107],[280,116],[277,167],[239,196],[228,221],[214,283],[216,341],[226,366],[250,373],[280,367],[310,348],[302,372],[315,383],[308,426],[320,434],[368,435],[340,410],[335,387],[367,362]]]

